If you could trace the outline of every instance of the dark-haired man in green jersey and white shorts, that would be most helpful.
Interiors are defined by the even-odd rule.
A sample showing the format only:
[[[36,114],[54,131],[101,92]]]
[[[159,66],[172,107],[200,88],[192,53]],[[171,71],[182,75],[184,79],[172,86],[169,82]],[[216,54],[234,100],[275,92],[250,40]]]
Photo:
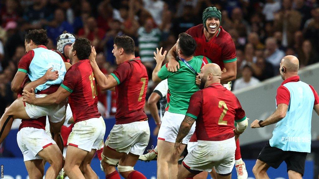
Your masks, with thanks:
[[[167,64],[162,67],[166,51],[162,54],[162,48],[154,52],[156,67],[152,73],[152,80],[159,82],[167,79],[167,111],[162,118],[157,140],[157,176],[158,178],[174,179],[178,171],[178,159],[180,155],[174,155],[174,143],[182,120],[185,117],[189,99],[199,90],[195,83],[196,75],[204,64],[211,61],[204,56],[193,56],[196,50],[196,41],[187,33],[180,33],[177,39],[178,62],[181,68],[177,72],[169,72]],[[181,147],[185,148],[190,137],[194,133],[195,126],[189,131],[182,141]]]

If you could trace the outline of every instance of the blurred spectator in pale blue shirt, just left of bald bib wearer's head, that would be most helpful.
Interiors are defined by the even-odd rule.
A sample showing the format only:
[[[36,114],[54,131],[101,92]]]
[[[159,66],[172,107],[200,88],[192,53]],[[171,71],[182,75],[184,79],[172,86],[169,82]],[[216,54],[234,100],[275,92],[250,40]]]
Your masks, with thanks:
[[[272,66],[277,69],[281,59],[285,56],[282,50],[278,49],[277,41],[273,37],[266,39],[266,61],[272,64]]]

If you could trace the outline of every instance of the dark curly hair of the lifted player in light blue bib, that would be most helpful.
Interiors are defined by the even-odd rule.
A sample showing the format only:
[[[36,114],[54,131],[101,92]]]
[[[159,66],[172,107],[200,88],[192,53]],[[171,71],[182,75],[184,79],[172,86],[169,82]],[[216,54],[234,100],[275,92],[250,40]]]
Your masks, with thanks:
[[[26,33],[24,39],[27,43],[30,43],[30,40],[33,41],[36,45],[48,45],[49,40],[47,36],[47,31],[44,29],[33,29]]]

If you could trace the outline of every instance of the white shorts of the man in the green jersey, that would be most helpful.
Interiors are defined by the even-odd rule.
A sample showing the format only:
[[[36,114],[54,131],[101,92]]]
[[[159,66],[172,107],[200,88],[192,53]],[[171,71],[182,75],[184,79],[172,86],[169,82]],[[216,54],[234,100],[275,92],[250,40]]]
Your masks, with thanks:
[[[167,142],[175,143],[178,130],[185,118],[184,114],[177,114],[165,111],[164,116],[162,118],[162,124],[159,128],[158,138],[159,140],[165,140]],[[189,130],[187,136],[183,139],[182,143],[187,144],[189,142],[190,137],[192,137],[195,132],[196,122],[194,122],[192,128]]]

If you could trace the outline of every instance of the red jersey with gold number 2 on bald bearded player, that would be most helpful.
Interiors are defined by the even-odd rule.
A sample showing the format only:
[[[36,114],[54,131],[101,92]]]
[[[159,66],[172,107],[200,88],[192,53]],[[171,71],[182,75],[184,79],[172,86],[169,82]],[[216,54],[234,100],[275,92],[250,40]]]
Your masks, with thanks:
[[[194,93],[186,116],[196,119],[197,140],[208,141],[234,137],[234,122],[246,119],[237,97],[220,83]]]

